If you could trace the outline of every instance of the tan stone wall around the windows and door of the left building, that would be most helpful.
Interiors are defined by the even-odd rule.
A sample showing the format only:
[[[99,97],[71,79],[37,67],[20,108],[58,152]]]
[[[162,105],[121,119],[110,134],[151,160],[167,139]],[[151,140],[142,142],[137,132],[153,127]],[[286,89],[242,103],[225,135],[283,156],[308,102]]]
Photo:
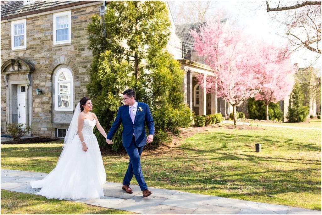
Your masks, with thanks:
[[[1,62],[20,57],[30,61],[35,70],[32,73],[32,135],[55,136],[56,128],[68,128],[72,111],[55,111],[53,105],[53,72],[57,67],[68,67],[74,78],[74,105],[81,97],[87,96],[86,84],[89,82],[88,68],[92,53],[88,49],[87,29],[93,14],[99,14],[100,3],[65,8],[56,12],[71,10],[71,43],[53,45],[53,13],[26,18],[27,48],[11,50],[11,20],[1,23]],[[16,19],[17,20],[17,19]],[[36,95],[36,89],[42,90]],[[1,76],[1,132],[5,132],[6,86]]]

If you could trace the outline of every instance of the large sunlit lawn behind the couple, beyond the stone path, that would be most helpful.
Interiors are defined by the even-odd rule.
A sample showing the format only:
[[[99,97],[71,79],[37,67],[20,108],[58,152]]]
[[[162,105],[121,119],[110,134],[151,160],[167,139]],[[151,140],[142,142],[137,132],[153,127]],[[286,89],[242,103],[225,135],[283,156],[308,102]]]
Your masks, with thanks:
[[[261,153],[255,143],[262,144]],[[1,145],[1,168],[49,173],[61,147]],[[107,181],[121,183],[128,155],[102,155]],[[321,210],[321,131],[220,127],[170,149],[144,150],[141,157],[150,187]]]

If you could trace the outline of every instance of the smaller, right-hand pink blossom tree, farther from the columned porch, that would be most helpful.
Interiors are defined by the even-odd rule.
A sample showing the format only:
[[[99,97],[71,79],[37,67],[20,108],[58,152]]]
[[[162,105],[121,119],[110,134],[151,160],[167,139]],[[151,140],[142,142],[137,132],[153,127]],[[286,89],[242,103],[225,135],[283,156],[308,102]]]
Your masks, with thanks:
[[[269,120],[268,106],[270,102],[284,100],[290,94],[294,85],[293,74],[296,70],[290,62],[290,53],[288,50],[275,47],[267,43],[259,47],[261,68],[258,70],[260,90],[256,100],[262,100],[265,103],[266,120]]]

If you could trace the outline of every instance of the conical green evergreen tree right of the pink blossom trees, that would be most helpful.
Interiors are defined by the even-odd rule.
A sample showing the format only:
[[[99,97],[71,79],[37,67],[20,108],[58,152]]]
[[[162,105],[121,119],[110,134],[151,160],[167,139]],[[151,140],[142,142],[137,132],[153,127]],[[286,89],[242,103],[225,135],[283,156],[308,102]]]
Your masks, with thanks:
[[[288,114],[286,118],[289,122],[303,122],[308,116],[308,107],[304,106],[304,95],[298,82],[293,87],[289,96]]]

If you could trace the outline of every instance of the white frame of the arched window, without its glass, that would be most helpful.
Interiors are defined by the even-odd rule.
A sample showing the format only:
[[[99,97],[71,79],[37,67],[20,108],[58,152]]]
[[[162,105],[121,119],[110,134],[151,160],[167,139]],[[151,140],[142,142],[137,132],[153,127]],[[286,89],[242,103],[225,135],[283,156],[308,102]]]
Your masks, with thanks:
[[[61,83],[62,81],[58,81],[58,77],[62,72],[67,72],[69,73],[69,75],[71,76],[71,80],[70,81],[66,81],[66,83],[71,83],[71,104],[70,107],[58,107],[58,95],[59,95],[59,83]],[[74,78],[73,75],[71,74],[71,71],[67,68],[61,68],[57,71],[56,75],[55,75],[55,110],[57,111],[73,111],[73,104],[74,104]],[[65,82],[65,81],[64,81]]]

